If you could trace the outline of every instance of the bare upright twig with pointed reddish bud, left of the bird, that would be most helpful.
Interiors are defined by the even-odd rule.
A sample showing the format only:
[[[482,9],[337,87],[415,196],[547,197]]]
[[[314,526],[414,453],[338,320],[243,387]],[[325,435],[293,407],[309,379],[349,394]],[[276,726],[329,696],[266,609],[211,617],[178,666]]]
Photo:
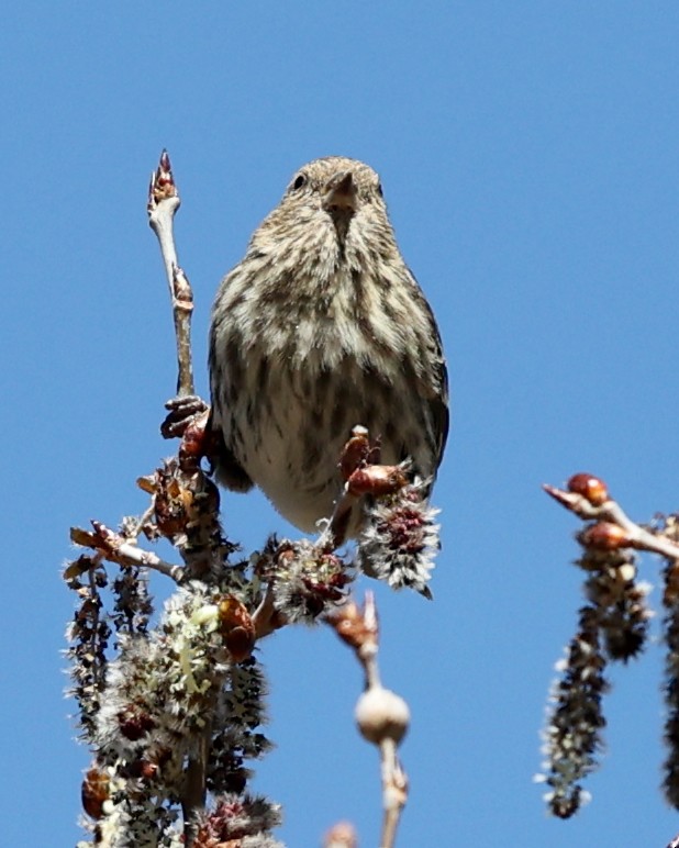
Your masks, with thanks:
[[[163,150],[160,161],[151,176],[148,187],[148,223],[158,238],[165,274],[172,301],[175,337],[177,341],[177,394],[187,397],[194,393],[193,367],[191,364],[191,314],[193,312],[193,292],[185,272],[179,267],[175,246],[174,221],[181,200],[167,150]]]

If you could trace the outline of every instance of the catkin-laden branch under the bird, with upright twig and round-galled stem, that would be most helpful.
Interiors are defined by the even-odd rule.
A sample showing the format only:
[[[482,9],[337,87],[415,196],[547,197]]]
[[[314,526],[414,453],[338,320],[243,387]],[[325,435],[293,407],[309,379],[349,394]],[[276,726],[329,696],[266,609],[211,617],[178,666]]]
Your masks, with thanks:
[[[96,521],[91,529],[71,528],[71,540],[93,554],[84,553],[65,572],[70,588],[84,599],[70,631],[77,640],[70,656],[80,724],[96,755],[88,786],[97,797],[88,795],[92,804],[86,806],[94,821],[87,828],[98,834],[105,826],[131,845],[175,839],[180,805],[186,848],[235,845],[236,837],[240,844],[246,835],[278,845],[269,839],[280,821],[277,805],[245,792],[249,779],[245,761],[269,747],[257,729],[266,685],[253,649],[256,640],[283,625],[312,623],[341,606],[337,632],[353,644],[366,678],[356,708],[358,726],[380,751],[380,845],[392,848],[408,797],[397,752],[408,729],[409,708],[380,683],[372,596],[358,611],[345,604],[346,587],[355,570],[363,569],[394,588],[411,587],[430,598],[426,583],[439,547],[437,511],[428,506],[427,481],[409,482],[408,464],[380,465],[379,443],[369,439],[365,427],[355,427],[341,457],[343,493],[320,542],[279,543],[271,537],[254,560],[230,561],[238,548],[223,533],[219,490],[201,467],[202,459],[211,457],[212,445],[205,434],[208,406],[194,395],[193,295],[179,267],[174,235],[179,205],[164,150],[152,176],[147,212],[170,291],[178,364],[177,397],[166,404],[169,414],[162,433],[166,438],[179,436],[181,444],[176,456],[137,480],[152,496],[141,518],[123,518],[118,531]],[[356,507],[368,501],[352,562],[334,551],[356,533]],[[152,542],[169,542],[183,565],[140,548],[142,533]],[[109,616],[99,615],[98,589],[108,583],[103,560],[123,567],[112,584],[114,613]],[[154,569],[179,585],[151,631],[153,607],[146,574],[138,567]],[[89,588],[81,583],[85,573]],[[116,635],[111,659],[108,622]],[[99,663],[94,668],[101,668],[98,676],[90,668],[92,656]],[[100,679],[107,670],[104,688]],[[104,771],[105,781],[100,779]],[[108,803],[99,803],[102,799]],[[348,826],[333,828],[327,839],[333,846],[355,845]]]

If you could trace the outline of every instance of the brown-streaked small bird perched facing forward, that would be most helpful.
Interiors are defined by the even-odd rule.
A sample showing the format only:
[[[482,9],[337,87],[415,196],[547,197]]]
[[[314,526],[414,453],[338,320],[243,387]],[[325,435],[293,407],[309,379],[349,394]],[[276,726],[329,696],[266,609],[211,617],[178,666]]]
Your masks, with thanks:
[[[441,337],[371,168],[331,156],[297,172],[222,280],[209,366],[219,481],[258,486],[300,529],[332,513],[357,424],[382,462],[410,457],[433,480],[448,429]]]

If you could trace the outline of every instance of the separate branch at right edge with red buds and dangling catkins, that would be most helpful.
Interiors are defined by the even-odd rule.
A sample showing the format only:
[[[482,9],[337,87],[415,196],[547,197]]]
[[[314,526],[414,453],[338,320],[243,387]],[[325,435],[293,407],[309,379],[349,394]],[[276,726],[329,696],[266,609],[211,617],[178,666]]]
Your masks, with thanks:
[[[577,534],[582,554],[576,561],[587,574],[587,604],[550,693],[550,710],[543,734],[546,773],[537,777],[550,788],[545,800],[553,814],[568,818],[589,793],[583,778],[598,767],[605,717],[602,698],[610,690],[604,674],[609,661],[627,662],[648,640],[653,612],[646,603],[650,587],[637,582],[635,551],[660,555],[665,591],[663,603],[665,740],[664,789],[679,808],[679,522],[677,515],[658,518],[649,528],[632,521],[611,498],[605,483],[589,473],[574,475],[565,489],[544,486],[554,500],[586,522]]]

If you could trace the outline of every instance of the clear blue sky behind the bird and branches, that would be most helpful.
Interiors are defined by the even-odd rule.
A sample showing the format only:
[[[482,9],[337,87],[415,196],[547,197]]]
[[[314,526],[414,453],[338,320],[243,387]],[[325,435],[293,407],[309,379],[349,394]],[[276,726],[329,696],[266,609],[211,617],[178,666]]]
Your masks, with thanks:
[[[68,527],[138,512],[176,373],[148,172],[170,150],[198,384],[218,281],[298,166],[380,171],[438,316],[453,428],[434,603],[378,590],[385,682],[413,722],[400,845],[665,846],[656,643],[614,669],[604,768],[545,816],[553,663],[581,602],[575,520],[541,492],[603,476],[637,520],[679,507],[679,8],[675,3],[15,3],[0,33],[5,399],[2,793],[8,845],[71,845],[84,750],[59,650]],[[223,501],[251,550],[282,520]],[[658,564],[644,577],[656,584]],[[363,585],[360,587],[364,588]],[[654,633],[657,635],[657,624]],[[278,747],[256,786],[281,837],[338,818],[375,845],[360,674],[323,629],[261,645]]]

